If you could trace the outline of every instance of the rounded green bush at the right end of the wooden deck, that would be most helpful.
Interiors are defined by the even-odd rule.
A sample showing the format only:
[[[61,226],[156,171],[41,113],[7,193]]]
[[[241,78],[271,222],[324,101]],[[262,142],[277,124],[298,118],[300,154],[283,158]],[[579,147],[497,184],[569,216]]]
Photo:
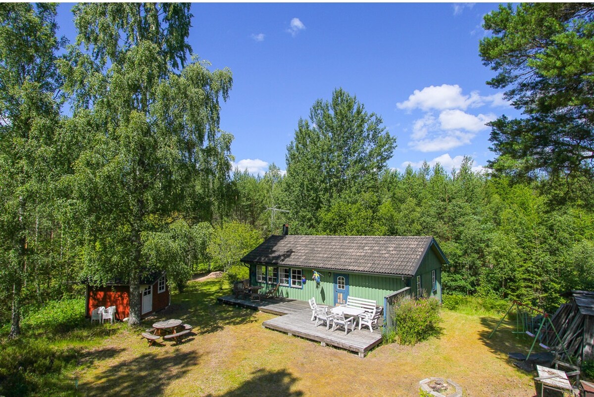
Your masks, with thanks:
[[[441,332],[440,301],[435,298],[402,298],[394,315],[396,337],[402,345],[415,345]]]

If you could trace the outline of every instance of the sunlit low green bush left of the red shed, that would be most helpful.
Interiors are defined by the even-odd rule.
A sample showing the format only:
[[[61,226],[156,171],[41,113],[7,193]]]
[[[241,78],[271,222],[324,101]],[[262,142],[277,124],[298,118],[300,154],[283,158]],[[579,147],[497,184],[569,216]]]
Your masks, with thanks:
[[[40,307],[27,308],[21,327],[35,331],[68,332],[86,324],[84,298],[52,300]]]

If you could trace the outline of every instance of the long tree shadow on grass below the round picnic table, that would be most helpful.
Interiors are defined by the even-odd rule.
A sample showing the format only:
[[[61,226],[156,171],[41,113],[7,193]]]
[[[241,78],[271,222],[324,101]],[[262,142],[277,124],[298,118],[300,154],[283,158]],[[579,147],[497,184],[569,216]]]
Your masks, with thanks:
[[[200,354],[174,351],[165,357],[146,352],[131,360],[110,366],[83,383],[85,395],[163,395],[173,380],[184,377],[197,363]]]

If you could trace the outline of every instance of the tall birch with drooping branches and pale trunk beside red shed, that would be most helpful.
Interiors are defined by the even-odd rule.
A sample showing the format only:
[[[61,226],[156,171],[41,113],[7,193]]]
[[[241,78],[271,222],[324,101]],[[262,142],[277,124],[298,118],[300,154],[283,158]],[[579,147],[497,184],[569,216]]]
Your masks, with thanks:
[[[170,219],[192,209],[210,221],[228,181],[232,136],[219,129],[219,109],[231,73],[188,62],[188,4],[79,4],[73,12],[78,46],[61,68],[75,105],[68,131],[84,139],[68,181],[81,256],[91,281],[120,277],[138,291],[151,271],[143,236],[170,233]],[[184,274],[179,261],[157,262]],[[130,325],[140,323],[140,304],[132,293]]]

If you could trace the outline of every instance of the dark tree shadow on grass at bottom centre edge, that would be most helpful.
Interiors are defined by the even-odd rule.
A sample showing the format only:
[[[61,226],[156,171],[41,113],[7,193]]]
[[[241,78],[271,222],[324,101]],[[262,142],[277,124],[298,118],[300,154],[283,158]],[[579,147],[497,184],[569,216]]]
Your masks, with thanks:
[[[220,397],[232,396],[289,396],[299,397],[304,395],[301,390],[291,390],[298,378],[287,370],[267,371],[259,369],[252,372],[252,379],[244,382],[235,390],[230,390]],[[213,395],[208,395],[213,397]]]

